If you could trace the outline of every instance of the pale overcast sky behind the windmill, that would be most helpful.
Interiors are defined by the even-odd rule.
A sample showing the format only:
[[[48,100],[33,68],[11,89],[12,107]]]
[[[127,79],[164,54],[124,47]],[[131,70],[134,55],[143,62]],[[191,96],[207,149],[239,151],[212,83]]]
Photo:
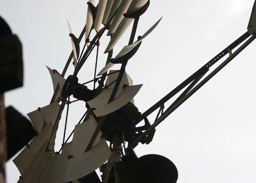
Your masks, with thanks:
[[[72,50],[67,20],[78,37],[86,22],[86,3],[85,0],[2,1],[0,16],[22,42],[24,66],[23,87],[5,93],[6,106],[13,105],[26,116],[49,104],[53,87],[46,65],[60,73],[63,70]],[[134,84],[143,84],[135,96],[140,112],[244,34],[253,3],[253,0],[151,0],[140,17],[135,38],[160,17],[163,19],[142,41],[126,67]],[[113,56],[128,44],[130,32],[131,26],[115,46]],[[104,34],[100,41],[98,72],[105,64],[107,55],[103,52],[109,40]],[[254,41],[158,125],[153,142],[139,144],[134,149],[137,156],[160,154],[172,160],[179,172],[177,183],[254,183],[255,48]],[[79,72],[79,82],[93,78],[95,55],[94,50]],[[116,65],[113,69],[119,68]],[[65,78],[73,69],[70,66]],[[84,102],[70,105],[67,134],[84,110]],[[149,117],[151,124],[155,115]],[[63,119],[64,115],[62,124]],[[60,124],[56,150],[61,147],[61,133]],[[7,183],[19,179],[12,160],[6,163],[6,175]]]

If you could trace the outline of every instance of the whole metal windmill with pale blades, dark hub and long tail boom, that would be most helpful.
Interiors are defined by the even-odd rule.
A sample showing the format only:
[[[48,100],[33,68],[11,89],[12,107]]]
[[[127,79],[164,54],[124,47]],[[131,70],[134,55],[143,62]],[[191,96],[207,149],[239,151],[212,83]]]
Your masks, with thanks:
[[[154,139],[157,125],[256,38],[256,3],[247,32],[143,113],[135,105],[134,98],[143,84],[133,84],[126,66],[143,47],[143,40],[150,37],[151,32],[159,31],[156,27],[162,17],[136,39],[140,16],[145,16],[150,0],[99,0],[97,5],[96,0],[89,0],[87,5],[86,26],[79,37],[72,32],[72,22],[67,21],[72,51],[62,73],[47,67],[54,89],[50,104],[27,114],[34,127],[28,133],[31,133],[30,139],[35,138],[27,145],[26,142],[26,147],[13,160],[21,174],[18,183],[176,183],[178,170],[171,160],[158,154],[137,157],[134,149],[139,143],[149,144]],[[127,34],[131,24],[128,45],[113,57],[116,44]],[[104,48],[108,56],[105,67],[97,73],[99,41],[104,33],[110,38]],[[95,47],[93,79],[84,81],[79,73]],[[219,63],[226,55],[228,57]],[[73,73],[65,77],[72,60]],[[217,63],[218,66],[210,72]],[[111,70],[116,65],[120,69]],[[89,83],[93,83],[93,88],[88,86]],[[178,93],[174,102],[165,106]],[[72,133],[66,134],[70,122],[69,107],[74,102],[85,103],[86,111]],[[67,113],[62,114],[66,107]],[[157,115],[151,122],[148,116],[155,111]],[[55,149],[60,123],[65,124],[63,141],[61,149]],[[98,168],[102,172],[101,178],[99,172],[96,173]]]

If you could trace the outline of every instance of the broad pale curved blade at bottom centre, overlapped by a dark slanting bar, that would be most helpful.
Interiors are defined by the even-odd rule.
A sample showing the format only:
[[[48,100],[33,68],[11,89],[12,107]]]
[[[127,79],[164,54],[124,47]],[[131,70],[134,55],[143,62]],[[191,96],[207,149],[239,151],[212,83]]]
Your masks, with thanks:
[[[76,180],[96,170],[111,156],[111,150],[105,138],[101,138],[101,132],[97,135],[92,148],[84,152],[96,127],[97,122],[93,116],[76,125],[68,160],[66,182]]]

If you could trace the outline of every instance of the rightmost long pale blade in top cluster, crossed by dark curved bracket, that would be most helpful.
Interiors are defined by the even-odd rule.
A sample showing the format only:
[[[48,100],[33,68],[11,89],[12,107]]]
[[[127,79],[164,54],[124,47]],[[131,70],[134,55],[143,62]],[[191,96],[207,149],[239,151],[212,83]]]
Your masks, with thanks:
[[[141,9],[147,2],[148,2],[148,0],[133,0],[126,13],[131,14],[133,12],[136,12],[137,10]],[[116,31],[114,32],[114,35],[111,38],[104,53],[107,53],[111,49],[113,49],[113,47],[116,45],[116,43],[122,37],[122,35],[125,33],[126,29],[130,26],[130,24],[132,23],[133,20],[134,19],[132,19],[132,18],[123,17],[119,26],[116,28]]]

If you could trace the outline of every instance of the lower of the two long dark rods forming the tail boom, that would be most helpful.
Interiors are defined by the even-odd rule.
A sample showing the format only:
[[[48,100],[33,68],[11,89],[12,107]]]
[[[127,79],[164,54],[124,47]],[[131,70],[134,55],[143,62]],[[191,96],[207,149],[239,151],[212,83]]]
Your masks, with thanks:
[[[160,124],[167,116],[169,116],[177,107],[179,107],[183,102],[185,102],[190,96],[192,96],[199,88],[201,88],[209,79],[211,79],[215,74],[217,74],[221,69],[223,69],[230,61],[233,60],[244,48],[246,48],[256,37],[251,36],[244,44],[242,44],[232,55],[230,55],[225,61],[223,61],[215,70],[212,71],[206,78],[204,78],[198,85],[196,85],[186,96],[180,99],[174,106],[166,110],[162,116],[160,116],[143,134],[134,139],[128,148],[136,146],[141,139],[143,139],[152,129]]]

